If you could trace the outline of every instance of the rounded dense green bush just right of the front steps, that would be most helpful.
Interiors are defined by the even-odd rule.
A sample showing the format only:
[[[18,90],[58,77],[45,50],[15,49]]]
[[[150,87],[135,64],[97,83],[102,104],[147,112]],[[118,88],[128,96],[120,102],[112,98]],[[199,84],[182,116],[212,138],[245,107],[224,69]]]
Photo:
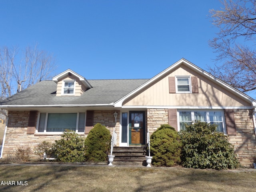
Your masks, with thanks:
[[[168,124],[163,124],[150,136],[152,165],[174,166],[180,160],[181,142],[178,132]]]

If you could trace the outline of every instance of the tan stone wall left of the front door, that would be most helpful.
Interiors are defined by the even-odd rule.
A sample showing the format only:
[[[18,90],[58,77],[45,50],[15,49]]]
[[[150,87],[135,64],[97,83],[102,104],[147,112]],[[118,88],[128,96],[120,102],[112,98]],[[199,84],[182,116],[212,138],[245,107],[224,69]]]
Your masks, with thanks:
[[[112,135],[114,127],[119,136],[119,116],[118,112],[117,123],[114,118],[115,111],[94,111],[94,124],[101,123],[110,130]],[[4,142],[3,158],[10,155],[15,155],[19,147],[29,146],[31,149],[31,157],[38,157],[34,154],[34,148],[43,141],[54,143],[54,140],[61,138],[61,135],[55,134],[27,134],[29,111],[9,111],[9,121],[7,125],[6,138]],[[81,134],[82,136],[87,136]]]

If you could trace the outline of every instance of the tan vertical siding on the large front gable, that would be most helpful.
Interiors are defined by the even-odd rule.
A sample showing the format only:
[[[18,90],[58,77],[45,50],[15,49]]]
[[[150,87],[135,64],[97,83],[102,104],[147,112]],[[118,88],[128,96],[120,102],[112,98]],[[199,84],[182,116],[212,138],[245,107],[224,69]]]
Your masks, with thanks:
[[[198,93],[170,93],[169,77],[175,76],[198,77]],[[124,106],[251,106],[251,104],[213,80],[181,65],[136,96],[124,101]]]

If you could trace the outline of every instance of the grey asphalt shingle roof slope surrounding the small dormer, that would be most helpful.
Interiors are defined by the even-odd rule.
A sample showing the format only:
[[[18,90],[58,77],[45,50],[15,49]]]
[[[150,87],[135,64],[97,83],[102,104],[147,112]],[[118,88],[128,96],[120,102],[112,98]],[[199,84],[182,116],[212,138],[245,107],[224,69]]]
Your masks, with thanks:
[[[92,88],[81,96],[56,96],[57,84],[42,81],[0,102],[1,105],[94,105],[116,102],[148,79],[88,80]]]

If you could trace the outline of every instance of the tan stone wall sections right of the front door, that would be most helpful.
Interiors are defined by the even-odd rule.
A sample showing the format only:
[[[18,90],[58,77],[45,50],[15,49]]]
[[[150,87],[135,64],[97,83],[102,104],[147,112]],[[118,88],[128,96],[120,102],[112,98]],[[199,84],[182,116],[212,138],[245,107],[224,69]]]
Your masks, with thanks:
[[[236,121],[236,136],[228,136],[234,145],[234,152],[238,155],[242,166],[252,167],[256,162],[256,138],[252,121],[253,110],[234,110]],[[168,124],[168,109],[148,109],[147,128],[152,134],[161,124]]]

